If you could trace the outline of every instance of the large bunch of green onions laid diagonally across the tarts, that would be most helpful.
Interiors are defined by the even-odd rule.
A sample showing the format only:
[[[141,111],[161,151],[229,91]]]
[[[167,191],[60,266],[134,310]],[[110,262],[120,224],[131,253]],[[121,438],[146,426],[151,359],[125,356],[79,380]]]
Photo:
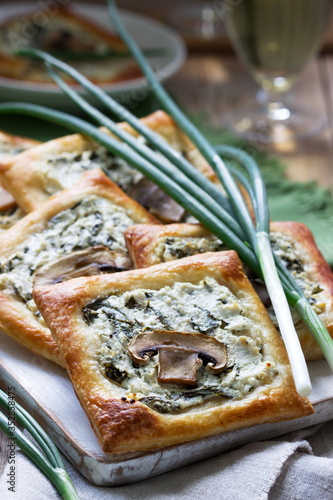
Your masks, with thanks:
[[[224,145],[213,148],[208,143],[157,81],[142,51],[123,27],[114,1],[109,0],[108,4],[115,30],[139,64],[161,107],[172,116],[212,166],[226,195],[126,108],[92,84],[77,70],[43,51],[28,48],[18,51],[17,54],[43,60],[59,87],[98,125],[105,126],[116,138],[85,120],[42,106],[25,103],[0,104],[0,113],[24,113],[87,135],[139,170],[229,248],[235,250],[241,260],[265,281],[286,345],[296,389],[302,396],[308,396],[311,392],[311,382],[289,305],[307,324],[332,370],[333,340],[298,283],[272,252],[266,190],[257,164],[242,150]],[[117,119],[128,122],[138,134],[145,138],[150,147],[137,141],[132,135],[120,129],[109,116],[89,104],[63,81],[58,73],[59,70],[78,82]],[[221,157],[233,160],[241,169],[235,170],[230,165],[227,167]],[[249,194],[255,214],[255,224],[234,177],[243,184]]]

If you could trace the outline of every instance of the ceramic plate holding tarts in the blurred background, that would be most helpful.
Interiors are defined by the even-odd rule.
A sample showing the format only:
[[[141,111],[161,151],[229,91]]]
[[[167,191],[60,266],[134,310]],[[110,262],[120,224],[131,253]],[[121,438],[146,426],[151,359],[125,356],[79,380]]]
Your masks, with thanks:
[[[71,6],[71,11],[78,12],[80,16],[93,20],[112,31],[111,20],[104,5],[76,4]],[[32,3],[6,3],[0,5],[0,19],[22,15],[22,22],[27,14],[36,11],[36,4]],[[158,68],[157,76],[163,81],[172,76],[183,64],[186,57],[186,48],[182,39],[169,27],[149,19],[145,16],[121,11],[121,19],[125,27],[132,34],[141,48],[161,48],[165,50],[162,56],[150,58],[149,61]],[[117,82],[101,86],[109,95],[129,101],[140,102],[147,94],[144,78],[136,78],[126,82]],[[53,84],[37,84],[0,77],[0,98],[3,101],[25,101],[43,104],[52,107],[68,106],[71,101],[61,90]],[[126,102],[124,103],[126,104]]]

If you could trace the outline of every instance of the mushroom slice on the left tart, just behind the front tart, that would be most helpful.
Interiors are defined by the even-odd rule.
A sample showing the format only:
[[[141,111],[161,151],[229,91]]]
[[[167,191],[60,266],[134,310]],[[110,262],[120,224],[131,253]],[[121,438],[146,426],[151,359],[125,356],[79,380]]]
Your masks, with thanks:
[[[107,247],[85,248],[37,269],[33,286],[54,285],[80,276],[126,271],[131,266],[129,257],[112,252]]]

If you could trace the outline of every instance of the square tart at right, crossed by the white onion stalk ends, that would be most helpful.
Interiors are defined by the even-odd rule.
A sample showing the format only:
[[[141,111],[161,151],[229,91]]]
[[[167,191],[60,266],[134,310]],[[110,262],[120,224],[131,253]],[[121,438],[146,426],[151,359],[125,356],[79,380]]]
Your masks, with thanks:
[[[131,226],[125,231],[125,239],[137,268],[227,249],[198,224]],[[298,222],[272,222],[271,243],[333,337],[333,274],[310,230]],[[267,307],[274,325],[278,327],[265,287],[250,269],[246,268],[246,273]],[[322,358],[322,352],[306,325],[297,313],[292,312],[292,316],[306,359]]]

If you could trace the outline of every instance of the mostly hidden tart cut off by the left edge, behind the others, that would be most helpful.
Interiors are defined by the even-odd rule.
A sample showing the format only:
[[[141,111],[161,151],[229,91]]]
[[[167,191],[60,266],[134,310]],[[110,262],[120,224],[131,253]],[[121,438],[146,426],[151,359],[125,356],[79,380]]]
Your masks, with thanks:
[[[38,144],[40,143],[33,139],[8,134],[0,130],[0,161]],[[15,199],[0,185],[0,232],[11,227],[21,217],[23,217],[23,212],[16,205]]]

